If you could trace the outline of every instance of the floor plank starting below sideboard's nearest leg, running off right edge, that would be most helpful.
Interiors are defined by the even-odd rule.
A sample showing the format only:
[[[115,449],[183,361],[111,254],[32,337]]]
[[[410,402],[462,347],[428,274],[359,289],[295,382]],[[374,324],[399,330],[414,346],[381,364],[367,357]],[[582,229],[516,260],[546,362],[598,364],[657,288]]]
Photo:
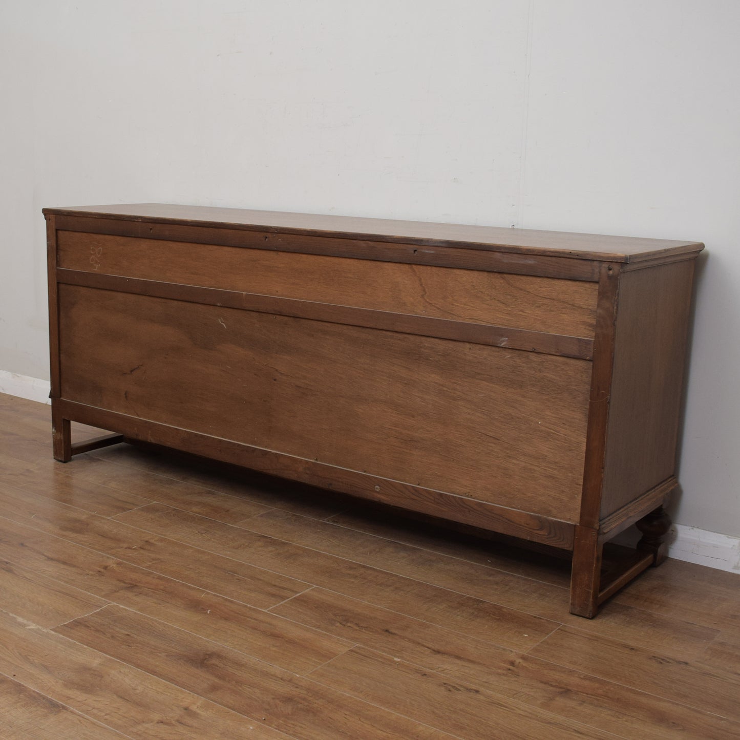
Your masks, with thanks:
[[[740,721],[740,676],[564,626],[531,655]]]

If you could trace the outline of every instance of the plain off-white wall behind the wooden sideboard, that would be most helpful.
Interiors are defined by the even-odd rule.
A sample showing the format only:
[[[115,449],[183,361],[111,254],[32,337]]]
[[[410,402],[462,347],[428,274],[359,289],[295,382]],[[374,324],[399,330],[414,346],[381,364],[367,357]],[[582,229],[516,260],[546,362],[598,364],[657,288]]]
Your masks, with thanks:
[[[0,369],[48,377],[42,206],[697,239],[676,520],[740,535],[740,2],[0,4]]]

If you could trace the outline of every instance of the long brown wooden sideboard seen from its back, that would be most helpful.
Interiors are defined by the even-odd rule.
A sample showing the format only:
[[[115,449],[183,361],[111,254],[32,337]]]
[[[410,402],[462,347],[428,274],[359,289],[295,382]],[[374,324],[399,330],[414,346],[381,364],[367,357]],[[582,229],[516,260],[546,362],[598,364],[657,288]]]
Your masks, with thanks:
[[[144,440],[552,545],[587,617],[665,558],[702,244],[153,203],[44,214],[57,460]],[[70,420],[116,434],[73,445]],[[635,522],[636,554],[602,577]]]

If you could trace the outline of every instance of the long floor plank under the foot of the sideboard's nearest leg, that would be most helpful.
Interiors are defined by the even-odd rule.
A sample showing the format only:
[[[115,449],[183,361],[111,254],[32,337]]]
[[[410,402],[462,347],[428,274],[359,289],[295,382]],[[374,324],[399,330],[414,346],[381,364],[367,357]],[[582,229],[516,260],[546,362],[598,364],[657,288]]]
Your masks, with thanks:
[[[116,518],[132,522],[146,516],[145,511],[124,512]],[[303,547],[383,568],[440,588],[460,591],[542,619],[577,625],[579,629],[625,639],[633,645],[655,647],[678,659],[702,653],[717,634],[713,628],[619,603],[605,605],[596,619],[582,619],[569,613],[570,592],[566,588],[351,531],[329,522],[297,517],[284,511],[268,511],[241,522],[239,526],[258,533],[269,532],[271,536]]]

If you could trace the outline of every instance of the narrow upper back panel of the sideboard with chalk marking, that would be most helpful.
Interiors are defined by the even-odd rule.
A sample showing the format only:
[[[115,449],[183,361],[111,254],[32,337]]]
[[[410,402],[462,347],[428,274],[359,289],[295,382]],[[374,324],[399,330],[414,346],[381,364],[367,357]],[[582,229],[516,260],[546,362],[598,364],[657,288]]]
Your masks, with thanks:
[[[596,315],[593,283],[215,244],[62,231],[58,266],[577,337]]]

